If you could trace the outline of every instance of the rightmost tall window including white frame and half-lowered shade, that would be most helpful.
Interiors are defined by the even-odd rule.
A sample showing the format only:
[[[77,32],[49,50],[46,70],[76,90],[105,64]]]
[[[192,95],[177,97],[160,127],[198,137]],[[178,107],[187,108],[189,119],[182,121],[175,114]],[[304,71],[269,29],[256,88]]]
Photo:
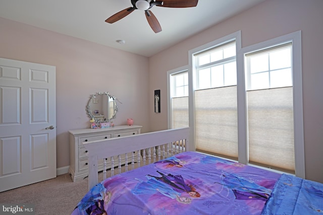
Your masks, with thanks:
[[[305,178],[300,31],[238,58],[239,162]]]

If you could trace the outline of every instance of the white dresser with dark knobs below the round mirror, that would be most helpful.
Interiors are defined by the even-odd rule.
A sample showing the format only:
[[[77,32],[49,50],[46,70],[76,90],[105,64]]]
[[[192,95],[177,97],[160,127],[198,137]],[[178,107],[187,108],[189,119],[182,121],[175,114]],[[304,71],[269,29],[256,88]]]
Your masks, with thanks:
[[[88,176],[88,159],[82,142],[129,136],[140,133],[140,125],[118,125],[110,128],[86,128],[69,130],[70,133],[70,169],[72,180],[78,181]],[[109,162],[109,161],[108,161]],[[117,163],[117,162],[116,162]],[[98,165],[102,171],[102,163]]]

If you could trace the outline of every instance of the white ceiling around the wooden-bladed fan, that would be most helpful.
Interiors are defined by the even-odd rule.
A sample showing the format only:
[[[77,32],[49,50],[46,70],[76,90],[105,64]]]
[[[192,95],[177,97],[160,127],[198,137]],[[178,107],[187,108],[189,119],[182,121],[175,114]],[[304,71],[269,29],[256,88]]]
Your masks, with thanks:
[[[163,31],[155,34],[143,11],[104,22],[131,0],[0,0],[0,17],[98,44],[152,56],[265,0],[199,0],[194,8],[151,8]],[[125,40],[119,44],[116,40]]]

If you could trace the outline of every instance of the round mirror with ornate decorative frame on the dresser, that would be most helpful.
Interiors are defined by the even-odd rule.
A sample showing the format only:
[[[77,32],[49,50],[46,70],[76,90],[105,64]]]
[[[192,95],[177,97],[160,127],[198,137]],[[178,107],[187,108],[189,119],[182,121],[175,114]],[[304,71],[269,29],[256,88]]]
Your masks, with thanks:
[[[96,123],[107,122],[116,117],[118,112],[117,98],[109,93],[96,93],[90,96],[87,114]]]

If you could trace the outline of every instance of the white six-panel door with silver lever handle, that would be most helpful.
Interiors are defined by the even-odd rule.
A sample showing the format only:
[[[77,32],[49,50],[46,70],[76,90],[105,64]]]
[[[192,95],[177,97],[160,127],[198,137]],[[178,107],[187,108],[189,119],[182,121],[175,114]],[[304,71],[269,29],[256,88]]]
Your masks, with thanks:
[[[56,67],[0,58],[0,192],[56,177]]]

